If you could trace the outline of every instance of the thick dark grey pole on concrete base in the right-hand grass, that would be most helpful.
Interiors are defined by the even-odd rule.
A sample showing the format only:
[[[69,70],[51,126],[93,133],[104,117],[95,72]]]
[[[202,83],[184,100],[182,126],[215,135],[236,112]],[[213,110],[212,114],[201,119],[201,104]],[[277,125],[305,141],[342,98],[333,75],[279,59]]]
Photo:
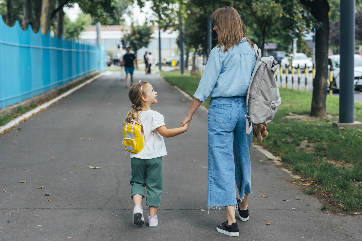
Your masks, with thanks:
[[[340,3],[340,107],[337,127],[361,128],[362,123],[354,121],[354,35],[355,0]]]

